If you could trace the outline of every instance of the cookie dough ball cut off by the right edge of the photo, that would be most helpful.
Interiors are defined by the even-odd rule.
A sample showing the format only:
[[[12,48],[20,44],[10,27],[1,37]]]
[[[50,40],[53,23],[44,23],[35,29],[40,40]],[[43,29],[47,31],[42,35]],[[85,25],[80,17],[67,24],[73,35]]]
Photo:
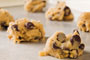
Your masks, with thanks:
[[[78,19],[78,28],[84,32],[90,32],[90,12],[84,12]]]

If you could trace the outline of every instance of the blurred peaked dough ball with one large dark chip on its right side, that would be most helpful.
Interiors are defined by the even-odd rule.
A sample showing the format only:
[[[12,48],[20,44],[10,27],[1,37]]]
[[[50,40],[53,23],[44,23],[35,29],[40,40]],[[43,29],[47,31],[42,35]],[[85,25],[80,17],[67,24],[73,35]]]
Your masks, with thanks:
[[[46,18],[52,21],[70,21],[73,20],[73,14],[65,2],[58,2],[55,8],[49,8],[46,11]]]

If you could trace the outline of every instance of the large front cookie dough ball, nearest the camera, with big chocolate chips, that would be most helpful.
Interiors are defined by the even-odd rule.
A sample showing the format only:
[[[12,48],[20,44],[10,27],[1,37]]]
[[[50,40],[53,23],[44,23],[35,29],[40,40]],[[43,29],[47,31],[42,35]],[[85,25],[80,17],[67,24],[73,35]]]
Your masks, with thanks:
[[[84,47],[77,30],[67,36],[63,32],[56,32],[47,40],[44,50],[39,55],[59,59],[77,58],[83,54]]]

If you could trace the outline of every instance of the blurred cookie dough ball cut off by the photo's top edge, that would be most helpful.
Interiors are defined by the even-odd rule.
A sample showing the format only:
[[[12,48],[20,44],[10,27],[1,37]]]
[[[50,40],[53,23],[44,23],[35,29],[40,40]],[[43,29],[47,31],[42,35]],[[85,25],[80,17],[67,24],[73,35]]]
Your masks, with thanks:
[[[42,12],[46,6],[46,0],[26,0],[25,10],[28,12]]]

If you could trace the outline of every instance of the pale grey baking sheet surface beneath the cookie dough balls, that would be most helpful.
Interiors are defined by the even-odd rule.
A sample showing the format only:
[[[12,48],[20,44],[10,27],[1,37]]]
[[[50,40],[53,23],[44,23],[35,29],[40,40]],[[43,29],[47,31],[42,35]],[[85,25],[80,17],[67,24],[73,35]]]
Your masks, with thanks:
[[[65,34],[72,33],[76,29],[76,22],[80,12],[72,9],[74,13],[74,21],[49,21],[45,19],[44,13],[27,13],[23,6],[9,7],[7,9],[15,19],[26,17],[40,21],[44,25],[46,37],[51,36],[56,31],[63,31]],[[61,59],[61,60],[90,60],[90,33],[81,32],[82,42],[85,43],[85,51],[78,59]],[[0,31],[0,60],[60,60],[51,56],[40,57],[39,51],[42,51],[45,43],[30,43],[14,44],[8,39],[6,31]]]

